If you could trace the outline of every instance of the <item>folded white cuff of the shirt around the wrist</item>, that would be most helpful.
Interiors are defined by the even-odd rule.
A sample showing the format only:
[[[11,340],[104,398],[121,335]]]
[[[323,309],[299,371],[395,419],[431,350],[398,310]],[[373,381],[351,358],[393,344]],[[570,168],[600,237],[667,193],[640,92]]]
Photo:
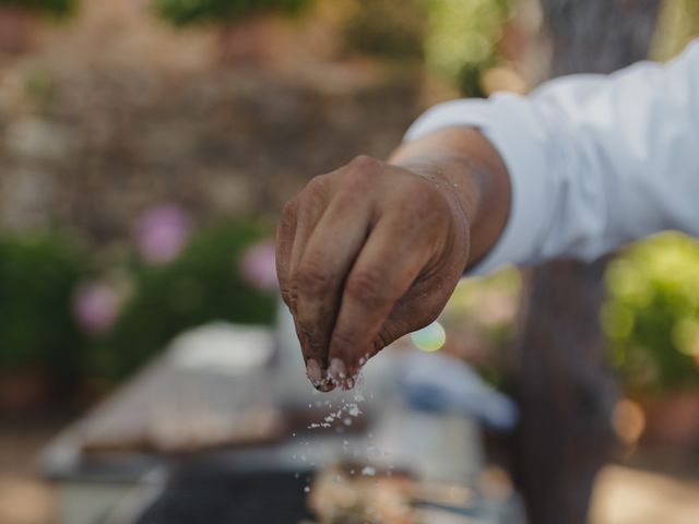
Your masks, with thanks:
[[[405,141],[450,127],[478,128],[500,153],[512,188],[510,216],[502,235],[465,276],[487,274],[506,264],[538,262],[538,248],[549,216],[546,204],[552,203],[545,179],[547,141],[541,118],[518,95],[453,100],[423,114],[405,133]]]

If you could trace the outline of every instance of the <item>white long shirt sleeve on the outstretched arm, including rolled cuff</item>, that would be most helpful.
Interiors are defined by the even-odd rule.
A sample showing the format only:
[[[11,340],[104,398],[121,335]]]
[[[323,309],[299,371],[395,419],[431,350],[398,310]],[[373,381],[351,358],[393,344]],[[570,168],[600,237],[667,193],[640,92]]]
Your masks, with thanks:
[[[699,40],[673,62],[433,107],[406,140],[479,128],[512,183],[508,224],[473,273],[592,260],[664,229],[699,236]]]

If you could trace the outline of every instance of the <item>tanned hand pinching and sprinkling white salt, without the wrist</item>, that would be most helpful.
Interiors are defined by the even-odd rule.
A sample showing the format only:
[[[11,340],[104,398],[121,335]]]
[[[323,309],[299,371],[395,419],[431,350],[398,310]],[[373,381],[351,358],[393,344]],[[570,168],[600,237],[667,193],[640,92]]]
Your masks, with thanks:
[[[316,388],[352,388],[368,358],[438,317],[469,260],[462,194],[440,169],[362,156],[286,204],[277,273]]]

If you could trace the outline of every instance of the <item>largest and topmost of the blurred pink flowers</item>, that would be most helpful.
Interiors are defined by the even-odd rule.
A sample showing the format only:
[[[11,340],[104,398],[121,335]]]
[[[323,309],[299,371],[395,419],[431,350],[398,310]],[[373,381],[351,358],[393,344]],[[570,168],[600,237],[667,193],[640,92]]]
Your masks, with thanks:
[[[179,206],[164,204],[146,210],[135,226],[141,257],[161,265],[177,259],[189,239],[191,219]]]

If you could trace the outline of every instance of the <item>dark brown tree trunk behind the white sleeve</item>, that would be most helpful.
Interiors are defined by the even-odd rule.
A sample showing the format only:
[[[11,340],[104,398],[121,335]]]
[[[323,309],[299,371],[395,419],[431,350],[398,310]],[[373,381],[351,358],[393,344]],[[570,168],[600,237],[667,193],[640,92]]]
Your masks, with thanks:
[[[643,59],[660,0],[541,0],[549,76],[608,73]],[[516,475],[532,524],[582,524],[614,445],[617,393],[597,322],[604,261],[533,272],[518,341],[522,424]]]

